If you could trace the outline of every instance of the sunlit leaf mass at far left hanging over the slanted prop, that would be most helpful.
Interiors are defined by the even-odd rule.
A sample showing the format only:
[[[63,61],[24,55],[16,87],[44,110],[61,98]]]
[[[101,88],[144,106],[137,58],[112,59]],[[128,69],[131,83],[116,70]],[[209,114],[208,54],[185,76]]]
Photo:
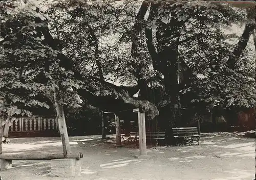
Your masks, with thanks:
[[[81,103],[75,91],[79,81],[71,69],[63,67],[61,52],[48,43],[52,40],[45,33],[48,19],[38,10],[43,9],[42,4],[18,1],[2,5],[1,114],[7,114],[8,107],[15,110],[12,114],[21,115],[31,112],[19,108],[49,109],[53,106],[53,87],[59,91],[64,106],[77,107]],[[66,91],[68,88],[73,91]]]

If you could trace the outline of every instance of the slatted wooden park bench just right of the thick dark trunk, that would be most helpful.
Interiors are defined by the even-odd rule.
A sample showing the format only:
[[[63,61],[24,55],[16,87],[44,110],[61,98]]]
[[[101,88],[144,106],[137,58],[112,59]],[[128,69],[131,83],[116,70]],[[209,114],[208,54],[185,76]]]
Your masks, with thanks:
[[[198,133],[197,127],[173,127],[173,137],[177,138],[177,143],[182,144],[184,146],[184,142],[188,142],[189,144],[194,143],[194,141],[198,142],[200,135]]]

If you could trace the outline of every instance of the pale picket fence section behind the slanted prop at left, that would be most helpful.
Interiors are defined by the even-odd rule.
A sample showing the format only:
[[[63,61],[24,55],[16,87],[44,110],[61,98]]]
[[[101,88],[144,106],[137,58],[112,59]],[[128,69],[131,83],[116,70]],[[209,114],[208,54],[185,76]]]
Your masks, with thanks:
[[[9,132],[58,131],[55,117],[19,118],[12,121]]]

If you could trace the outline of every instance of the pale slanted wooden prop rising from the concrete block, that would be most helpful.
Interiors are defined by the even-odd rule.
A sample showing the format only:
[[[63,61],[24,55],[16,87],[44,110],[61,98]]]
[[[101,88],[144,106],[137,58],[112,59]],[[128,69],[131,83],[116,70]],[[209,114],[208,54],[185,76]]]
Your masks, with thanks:
[[[67,157],[68,153],[70,153],[69,135],[63,106],[61,105],[61,98],[58,97],[58,91],[56,91],[56,89],[54,91],[54,103],[59,124],[60,137],[63,146],[63,155],[64,157]]]

